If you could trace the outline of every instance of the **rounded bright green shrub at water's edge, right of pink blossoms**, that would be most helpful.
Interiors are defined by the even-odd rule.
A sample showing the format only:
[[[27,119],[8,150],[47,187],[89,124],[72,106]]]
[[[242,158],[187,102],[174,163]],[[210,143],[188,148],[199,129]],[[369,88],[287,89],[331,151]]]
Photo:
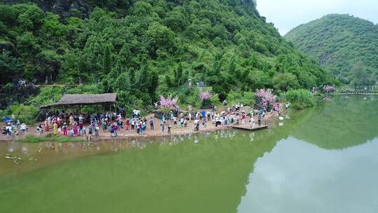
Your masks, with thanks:
[[[288,90],[285,97],[294,109],[304,109],[314,106],[314,96],[309,90]]]

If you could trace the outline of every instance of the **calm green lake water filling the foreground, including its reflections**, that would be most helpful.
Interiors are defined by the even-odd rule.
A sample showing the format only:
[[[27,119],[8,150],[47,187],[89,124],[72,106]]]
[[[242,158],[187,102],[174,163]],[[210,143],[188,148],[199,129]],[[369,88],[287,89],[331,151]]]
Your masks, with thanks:
[[[378,100],[290,116],[254,133],[3,142],[0,212],[378,212]]]

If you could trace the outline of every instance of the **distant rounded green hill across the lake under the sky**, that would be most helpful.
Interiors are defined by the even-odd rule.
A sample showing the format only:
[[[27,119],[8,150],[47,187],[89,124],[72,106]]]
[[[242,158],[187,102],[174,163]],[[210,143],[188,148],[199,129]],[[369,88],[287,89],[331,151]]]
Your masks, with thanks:
[[[318,58],[333,75],[349,83],[353,67],[378,77],[378,25],[351,15],[325,15],[292,29],[286,39]],[[368,83],[368,82],[367,82]]]

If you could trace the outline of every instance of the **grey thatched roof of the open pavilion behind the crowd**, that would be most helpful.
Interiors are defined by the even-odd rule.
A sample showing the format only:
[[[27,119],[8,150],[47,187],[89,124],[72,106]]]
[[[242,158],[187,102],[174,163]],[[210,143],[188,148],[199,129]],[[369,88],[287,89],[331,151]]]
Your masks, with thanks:
[[[63,95],[63,97],[56,104],[48,104],[41,109],[48,108],[66,108],[66,107],[83,107],[87,105],[92,106],[107,106],[110,107],[117,100],[116,93],[105,94],[74,94]]]

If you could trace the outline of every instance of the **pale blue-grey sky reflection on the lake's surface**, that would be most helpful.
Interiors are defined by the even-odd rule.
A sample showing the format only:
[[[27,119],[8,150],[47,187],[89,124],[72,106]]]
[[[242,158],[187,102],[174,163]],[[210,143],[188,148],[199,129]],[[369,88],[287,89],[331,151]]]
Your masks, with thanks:
[[[238,212],[377,212],[377,156],[378,138],[343,151],[283,139],[255,163]]]

